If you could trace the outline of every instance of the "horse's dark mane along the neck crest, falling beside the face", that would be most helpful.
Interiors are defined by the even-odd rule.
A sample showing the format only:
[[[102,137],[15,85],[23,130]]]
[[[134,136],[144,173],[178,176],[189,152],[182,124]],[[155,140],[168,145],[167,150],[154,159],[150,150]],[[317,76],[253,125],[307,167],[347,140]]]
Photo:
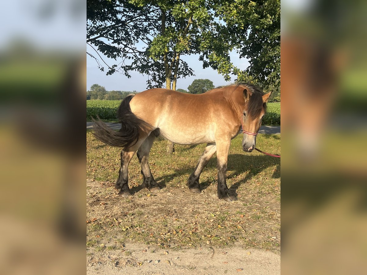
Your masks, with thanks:
[[[237,82],[234,84],[219,86],[217,87],[217,89],[227,88],[227,87],[237,88],[239,86],[246,88],[247,91],[250,93],[250,98],[246,104],[247,115],[252,119],[259,117],[263,108],[266,111],[266,104],[262,101],[262,96],[264,95],[264,93],[262,92],[262,90],[259,87],[256,87],[255,85],[252,85],[246,82]]]

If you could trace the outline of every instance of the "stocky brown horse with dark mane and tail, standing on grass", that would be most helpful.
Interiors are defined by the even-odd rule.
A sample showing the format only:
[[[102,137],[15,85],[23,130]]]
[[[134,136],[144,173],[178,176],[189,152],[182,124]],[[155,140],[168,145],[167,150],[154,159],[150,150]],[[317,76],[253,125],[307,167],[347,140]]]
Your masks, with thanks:
[[[188,187],[200,193],[199,177],[212,155],[217,151],[218,198],[237,200],[229,193],[226,169],[231,140],[241,128],[244,130],[242,148],[251,152],[256,145],[266,102],[270,93],[263,95],[255,86],[237,84],[212,89],[204,94],[184,94],[169,89],[150,89],[129,95],[117,111],[121,123],[119,132],[101,121],[94,121],[94,135],[111,146],[121,146],[121,167],[116,189],[120,195],[130,194],[127,184],[128,165],[137,152],[143,174],[143,185],[150,191],[160,189],[150,172],[148,158],[153,141],[162,135],[178,144],[207,143],[195,170],[188,179]]]

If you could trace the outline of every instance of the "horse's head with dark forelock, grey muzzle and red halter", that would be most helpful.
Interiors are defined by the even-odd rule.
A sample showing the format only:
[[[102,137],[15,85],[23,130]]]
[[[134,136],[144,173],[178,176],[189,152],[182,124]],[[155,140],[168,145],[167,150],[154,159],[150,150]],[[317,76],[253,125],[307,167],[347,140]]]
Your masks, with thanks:
[[[265,115],[266,103],[269,100],[271,92],[262,95],[257,89],[244,88],[243,97],[245,106],[242,115],[242,149],[245,152],[251,152],[256,146],[256,136],[259,131],[262,117]]]

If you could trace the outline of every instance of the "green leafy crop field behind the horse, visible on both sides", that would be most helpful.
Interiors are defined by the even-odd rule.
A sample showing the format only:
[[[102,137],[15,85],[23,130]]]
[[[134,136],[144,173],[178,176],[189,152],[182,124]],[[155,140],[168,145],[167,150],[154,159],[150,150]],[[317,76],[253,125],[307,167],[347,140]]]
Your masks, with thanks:
[[[116,121],[116,111],[121,100],[87,100],[87,120],[97,115],[104,121]],[[280,125],[280,102],[268,103],[262,125]]]

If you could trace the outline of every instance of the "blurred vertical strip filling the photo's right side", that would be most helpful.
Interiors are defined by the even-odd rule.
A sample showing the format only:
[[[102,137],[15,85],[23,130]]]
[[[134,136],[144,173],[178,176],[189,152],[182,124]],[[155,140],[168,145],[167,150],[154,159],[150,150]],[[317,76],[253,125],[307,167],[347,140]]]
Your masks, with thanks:
[[[281,1],[282,274],[367,270],[366,14]]]

